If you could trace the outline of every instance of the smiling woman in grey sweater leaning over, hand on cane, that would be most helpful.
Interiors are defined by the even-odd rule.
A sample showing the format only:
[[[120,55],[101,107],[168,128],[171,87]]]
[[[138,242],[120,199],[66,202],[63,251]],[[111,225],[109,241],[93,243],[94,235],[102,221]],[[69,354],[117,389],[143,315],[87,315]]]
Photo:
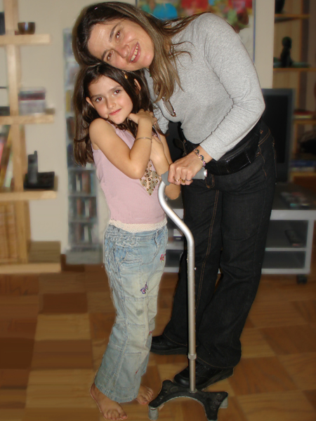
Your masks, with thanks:
[[[181,123],[185,156],[171,164],[169,181],[184,186],[185,223],[195,238],[196,385],[203,389],[239,362],[261,278],[276,174],[256,69],[235,30],[216,15],[161,22],[119,2],[82,13],[74,49],[80,62],[145,69],[159,127]],[[208,177],[192,182],[202,166]],[[185,265],[184,254],[171,321],[152,340],[157,354],[187,353]],[[188,387],[189,370],[174,381]]]

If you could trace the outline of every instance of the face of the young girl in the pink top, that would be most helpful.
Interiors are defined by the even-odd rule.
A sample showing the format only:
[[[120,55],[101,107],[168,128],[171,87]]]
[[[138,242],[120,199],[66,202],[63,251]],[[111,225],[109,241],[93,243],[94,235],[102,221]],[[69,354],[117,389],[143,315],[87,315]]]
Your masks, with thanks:
[[[90,98],[86,101],[96,109],[99,116],[115,124],[123,123],[131,114],[133,102],[119,83],[107,76],[89,86]]]

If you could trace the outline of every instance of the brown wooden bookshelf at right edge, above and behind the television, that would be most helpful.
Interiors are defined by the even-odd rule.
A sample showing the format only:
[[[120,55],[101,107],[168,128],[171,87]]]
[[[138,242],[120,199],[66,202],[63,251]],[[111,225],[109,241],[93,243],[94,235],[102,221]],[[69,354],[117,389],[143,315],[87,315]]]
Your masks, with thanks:
[[[291,58],[294,65],[302,67],[287,67],[273,69],[273,88],[294,88],[296,91],[295,108],[306,112],[306,99],[310,92],[307,90],[307,78],[316,72],[316,67],[305,67],[305,63],[309,62],[308,43],[312,43],[312,39],[308,39],[308,25],[313,24],[314,16],[310,15],[310,4],[306,0],[286,0],[284,3],[283,13],[275,15],[275,57],[279,57],[282,51],[282,39],[289,36],[292,39]],[[310,58],[310,60],[312,60]],[[316,91],[316,86],[315,86]],[[316,92],[315,92],[316,99]],[[306,131],[315,130],[316,128],[316,109],[308,110],[310,118],[304,118],[303,115],[296,116],[294,114],[294,137],[291,154],[290,180],[299,185],[312,185],[315,182],[316,166],[310,167],[310,161],[316,162],[316,156],[306,157],[300,145],[300,138]],[[314,112],[314,114],[312,114]],[[303,182],[303,180],[306,182]],[[309,180],[308,180],[309,179]]]

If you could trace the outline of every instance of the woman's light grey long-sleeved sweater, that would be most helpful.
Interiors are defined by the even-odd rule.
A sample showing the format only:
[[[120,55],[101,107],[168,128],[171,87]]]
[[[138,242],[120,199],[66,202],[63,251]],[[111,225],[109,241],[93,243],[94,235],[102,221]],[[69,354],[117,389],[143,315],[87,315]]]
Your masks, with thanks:
[[[170,98],[176,117],[157,102],[158,123],[165,133],[180,121],[185,138],[220,159],[251,131],[265,108],[254,64],[239,36],[225,20],[205,13],[173,37],[181,88]],[[152,79],[145,72],[152,100]]]

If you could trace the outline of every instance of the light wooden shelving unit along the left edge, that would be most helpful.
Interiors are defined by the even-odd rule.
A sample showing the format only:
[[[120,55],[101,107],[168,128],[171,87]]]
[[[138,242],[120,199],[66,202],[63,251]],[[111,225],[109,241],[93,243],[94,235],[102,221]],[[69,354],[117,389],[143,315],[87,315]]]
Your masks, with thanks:
[[[60,243],[32,243],[29,224],[29,200],[54,199],[54,191],[25,191],[23,180],[27,172],[25,124],[53,123],[53,112],[19,115],[18,93],[21,81],[20,47],[48,45],[48,34],[16,35],[18,29],[18,0],[4,0],[6,34],[0,36],[0,46],[6,48],[8,69],[9,116],[0,116],[0,124],[11,126],[13,151],[13,191],[0,192],[0,203],[14,203],[17,257],[1,261],[0,274],[60,272]]]

